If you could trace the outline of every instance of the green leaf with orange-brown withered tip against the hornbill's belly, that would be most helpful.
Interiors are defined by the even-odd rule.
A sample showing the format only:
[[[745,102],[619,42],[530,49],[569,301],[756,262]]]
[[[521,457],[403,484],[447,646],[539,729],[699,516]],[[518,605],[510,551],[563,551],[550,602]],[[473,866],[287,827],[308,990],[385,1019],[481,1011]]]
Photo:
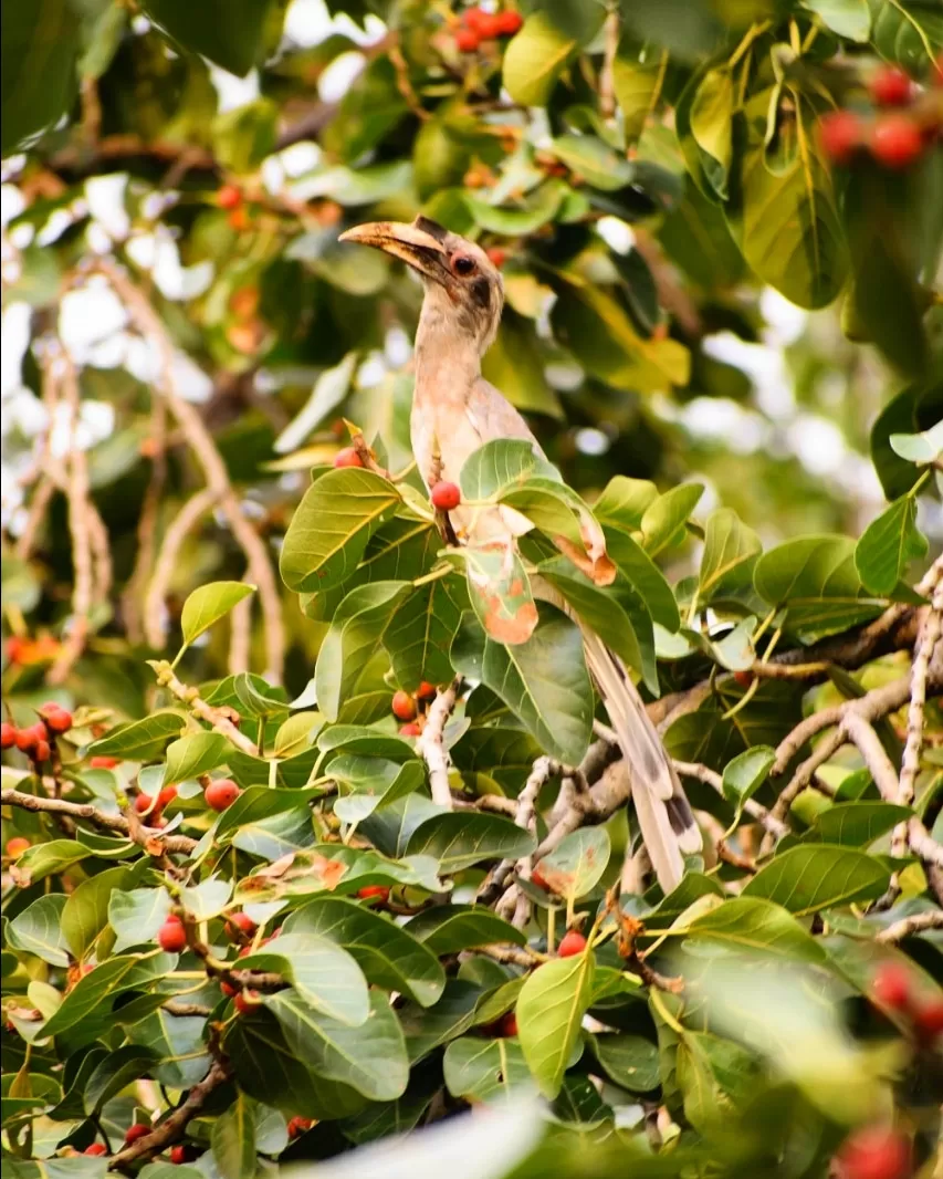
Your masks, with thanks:
[[[495,643],[527,643],[538,608],[520,555],[508,545],[464,545],[447,553],[466,568],[468,597],[479,621]]]

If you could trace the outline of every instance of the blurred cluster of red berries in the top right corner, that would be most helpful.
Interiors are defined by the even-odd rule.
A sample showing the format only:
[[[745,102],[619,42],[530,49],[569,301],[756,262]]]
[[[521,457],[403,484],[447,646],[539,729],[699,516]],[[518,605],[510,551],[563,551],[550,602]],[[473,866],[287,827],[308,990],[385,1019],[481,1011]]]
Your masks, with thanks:
[[[835,164],[852,164],[858,156],[870,153],[883,167],[910,167],[943,129],[943,59],[937,62],[931,91],[921,90],[903,70],[884,66],[871,79],[869,92],[877,116],[852,110],[823,116],[822,150]]]

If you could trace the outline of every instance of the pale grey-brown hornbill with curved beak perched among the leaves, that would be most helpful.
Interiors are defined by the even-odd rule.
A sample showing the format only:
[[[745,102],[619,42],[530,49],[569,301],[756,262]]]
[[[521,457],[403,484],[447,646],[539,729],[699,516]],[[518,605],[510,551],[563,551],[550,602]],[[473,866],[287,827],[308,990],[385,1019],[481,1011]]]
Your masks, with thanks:
[[[546,465],[530,427],[481,373],[505,304],[501,274],[487,252],[423,216],[411,223],[356,225],[339,239],[382,250],[404,262],[422,281],[410,435],[427,489],[431,493],[440,480],[457,483],[466,460],[495,439],[527,441]],[[530,527],[506,506],[489,511],[459,507],[449,513],[449,520],[456,538],[474,545],[513,547],[516,536]],[[594,531],[591,525],[583,538],[586,553],[580,567],[596,584],[612,581],[615,567],[605,555],[599,526]],[[628,771],[641,839],[667,895],[684,875],[684,856],[701,849],[700,831],[678,773],[622,660],[553,587],[535,580],[534,594],[565,610],[580,627],[587,667]]]

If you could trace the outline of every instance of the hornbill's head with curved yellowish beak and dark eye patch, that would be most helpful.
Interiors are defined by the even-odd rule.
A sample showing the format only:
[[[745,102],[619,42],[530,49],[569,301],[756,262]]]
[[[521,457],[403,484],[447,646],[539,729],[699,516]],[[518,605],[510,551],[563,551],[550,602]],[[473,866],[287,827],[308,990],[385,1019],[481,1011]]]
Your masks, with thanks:
[[[426,288],[423,320],[464,336],[483,353],[495,337],[505,303],[501,275],[484,250],[427,217],[411,225],[370,222],[341,235],[342,242],[360,242],[401,258],[422,278]]]

